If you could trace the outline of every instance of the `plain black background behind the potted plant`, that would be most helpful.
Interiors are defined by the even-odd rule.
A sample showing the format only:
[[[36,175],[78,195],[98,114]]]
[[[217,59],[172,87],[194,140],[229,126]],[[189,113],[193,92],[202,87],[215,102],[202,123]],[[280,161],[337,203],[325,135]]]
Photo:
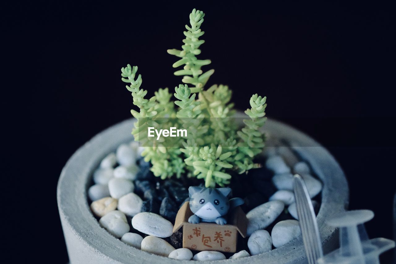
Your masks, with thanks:
[[[43,247],[52,260],[67,261],[55,199],[61,168],[84,142],[131,117],[121,67],[139,66],[148,96],[181,83],[171,67],[177,58],[166,50],[181,48],[192,8],[206,13],[198,58],[212,60],[204,67],[215,69],[208,87],[228,84],[238,109],[248,107],[251,94],[267,96],[268,117],[312,136],[339,161],[349,208],[375,212],[366,224],[369,237],[392,238],[396,86],[389,3],[18,2],[2,10],[3,55],[10,59],[3,73],[15,75],[3,88],[15,93],[3,96],[3,113],[13,124],[7,132],[25,147],[11,149],[13,160],[25,161],[10,175],[23,175],[40,201],[27,210],[40,207],[48,220],[53,243]],[[42,237],[43,227],[29,230]]]

